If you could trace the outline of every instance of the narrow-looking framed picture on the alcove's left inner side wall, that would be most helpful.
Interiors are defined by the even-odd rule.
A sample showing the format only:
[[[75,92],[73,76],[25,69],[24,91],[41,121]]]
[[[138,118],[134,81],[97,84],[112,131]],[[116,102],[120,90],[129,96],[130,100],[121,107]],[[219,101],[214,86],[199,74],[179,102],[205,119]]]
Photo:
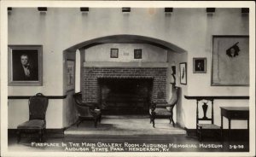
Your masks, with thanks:
[[[67,90],[73,90],[75,86],[75,61],[67,60]]]

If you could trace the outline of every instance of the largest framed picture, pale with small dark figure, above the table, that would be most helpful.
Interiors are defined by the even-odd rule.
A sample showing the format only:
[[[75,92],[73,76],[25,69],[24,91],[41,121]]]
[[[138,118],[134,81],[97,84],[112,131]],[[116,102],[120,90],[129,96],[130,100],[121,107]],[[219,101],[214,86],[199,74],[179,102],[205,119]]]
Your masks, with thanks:
[[[212,36],[212,86],[249,85],[249,36]]]

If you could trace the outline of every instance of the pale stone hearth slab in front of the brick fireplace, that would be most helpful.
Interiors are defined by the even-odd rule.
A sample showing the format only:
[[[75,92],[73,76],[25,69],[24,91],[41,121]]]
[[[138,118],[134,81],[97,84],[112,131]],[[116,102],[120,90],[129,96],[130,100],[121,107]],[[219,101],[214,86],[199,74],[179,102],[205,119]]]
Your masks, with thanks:
[[[169,124],[169,119],[155,119],[155,128],[148,116],[125,115],[103,116],[102,122],[94,127],[93,121],[84,121],[79,127],[71,126],[64,131],[69,135],[172,135],[186,134],[186,131]]]

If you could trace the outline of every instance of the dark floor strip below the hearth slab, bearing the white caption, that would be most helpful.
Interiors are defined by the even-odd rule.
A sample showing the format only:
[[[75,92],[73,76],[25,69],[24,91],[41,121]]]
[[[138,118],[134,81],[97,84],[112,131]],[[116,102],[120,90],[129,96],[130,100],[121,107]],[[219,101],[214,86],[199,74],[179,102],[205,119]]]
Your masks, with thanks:
[[[207,137],[198,142],[197,137],[187,135],[48,135],[44,142],[36,137],[22,137],[20,143],[15,135],[9,135],[10,152],[248,152],[247,139],[223,142]]]

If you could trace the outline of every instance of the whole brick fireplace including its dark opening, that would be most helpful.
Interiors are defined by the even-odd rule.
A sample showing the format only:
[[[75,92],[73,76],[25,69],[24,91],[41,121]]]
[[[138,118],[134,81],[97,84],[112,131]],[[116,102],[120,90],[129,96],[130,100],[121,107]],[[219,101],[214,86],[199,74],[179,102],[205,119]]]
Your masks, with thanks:
[[[145,114],[148,102],[166,101],[167,67],[83,67],[84,102],[103,113]]]

